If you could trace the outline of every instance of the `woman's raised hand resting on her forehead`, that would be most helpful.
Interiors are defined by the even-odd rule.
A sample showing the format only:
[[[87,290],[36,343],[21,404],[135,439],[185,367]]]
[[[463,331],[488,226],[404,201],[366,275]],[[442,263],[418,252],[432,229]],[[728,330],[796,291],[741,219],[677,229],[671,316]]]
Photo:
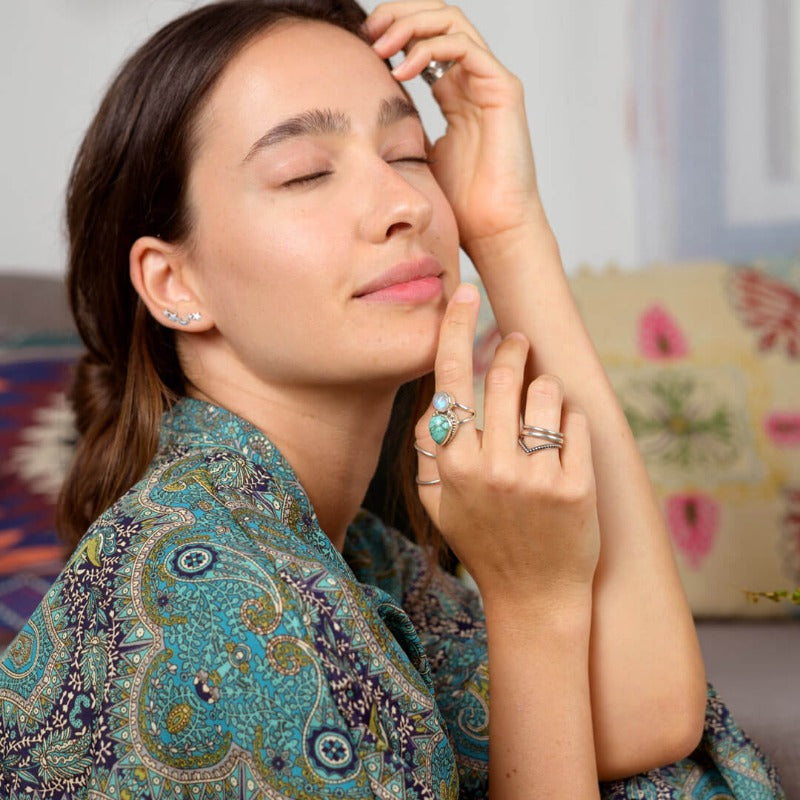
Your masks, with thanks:
[[[441,0],[398,0],[379,5],[365,29],[382,58],[407,50],[393,70],[399,81],[416,77],[432,60],[455,62],[432,87],[447,131],[431,158],[464,249],[545,222],[522,84],[462,11]]]

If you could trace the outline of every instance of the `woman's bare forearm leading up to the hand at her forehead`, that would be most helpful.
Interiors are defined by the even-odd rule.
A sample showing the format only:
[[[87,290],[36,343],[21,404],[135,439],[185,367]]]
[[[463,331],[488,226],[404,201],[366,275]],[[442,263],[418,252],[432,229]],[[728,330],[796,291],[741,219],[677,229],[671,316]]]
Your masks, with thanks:
[[[473,243],[469,254],[501,332],[521,331],[531,342],[529,377],[558,375],[566,397],[589,418],[601,531],[590,652],[601,776],[674,760],[691,749],[693,732],[700,734],[699,647],[644,464],[580,319],[558,247],[546,223],[537,222],[524,235]],[[653,718],[664,727],[652,726]]]

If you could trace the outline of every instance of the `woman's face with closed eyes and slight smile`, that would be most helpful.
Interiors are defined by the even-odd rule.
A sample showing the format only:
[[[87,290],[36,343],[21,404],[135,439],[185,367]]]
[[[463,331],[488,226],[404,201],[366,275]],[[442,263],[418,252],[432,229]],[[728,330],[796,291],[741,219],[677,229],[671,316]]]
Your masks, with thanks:
[[[419,119],[364,42],[280,24],[227,67],[198,143],[188,263],[226,356],[281,384],[431,368],[458,232]]]

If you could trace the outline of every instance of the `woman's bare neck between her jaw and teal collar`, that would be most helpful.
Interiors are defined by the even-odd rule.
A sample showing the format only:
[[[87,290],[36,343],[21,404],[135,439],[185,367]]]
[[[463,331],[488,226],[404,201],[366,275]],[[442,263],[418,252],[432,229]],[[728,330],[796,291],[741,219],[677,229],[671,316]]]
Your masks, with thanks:
[[[291,464],[320,527],[341,551],[375,474],[395,390],[263,385],[248,390],[221,384],[190,393],[238,414],[269,437]]]

